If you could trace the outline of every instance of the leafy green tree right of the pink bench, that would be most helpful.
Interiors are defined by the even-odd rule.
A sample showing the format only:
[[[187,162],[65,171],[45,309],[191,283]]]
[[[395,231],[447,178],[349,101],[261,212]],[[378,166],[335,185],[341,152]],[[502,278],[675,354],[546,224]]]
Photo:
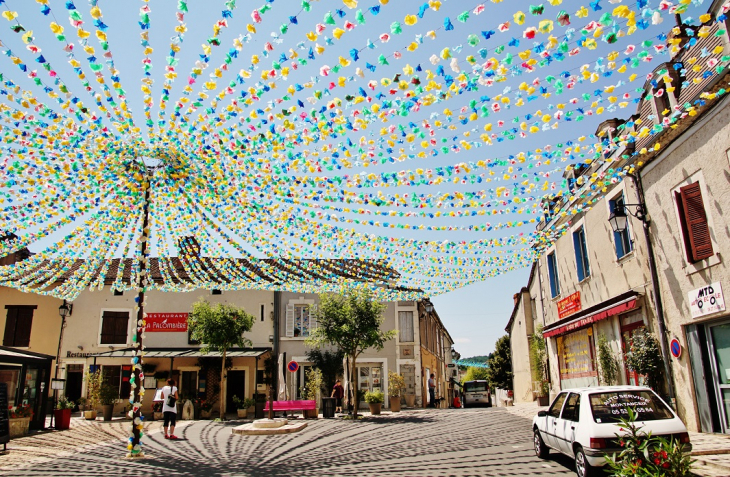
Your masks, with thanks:
[[[315,328],[307,344],[321,348],[325,344],[335,345],[350,357],[350,378],[352,389],[357,390],[357,357],[368,348],[381,350],[386,341],[395,336],[395,330],[382,331],[385,305],[372,298],[369,291],[351,291],[345,295],[326,294],[320,297],[316,312]],[[353,392],[357,399],[357,393]],[[355,403],[353,418],[357,419]]]

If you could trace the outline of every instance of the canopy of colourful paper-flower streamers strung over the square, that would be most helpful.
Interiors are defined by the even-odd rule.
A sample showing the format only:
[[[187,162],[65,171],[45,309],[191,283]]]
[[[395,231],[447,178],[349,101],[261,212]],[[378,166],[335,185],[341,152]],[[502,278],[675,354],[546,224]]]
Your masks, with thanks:
[[[130,2],[52,3],[0,0],[0,256],[34,252],[0,284],[68,299],[140,278],[413,299],[525,267],[561,233],[536,226],[576,194],[566,171],[691,114],[592,134],[645,82],[680,87],[656,68],[725,35],[728,11],[141,0],[132,19]],[[729,61],[703,50],[677,71],[705,80]],[[599,200],[629,167],[577,194]]]

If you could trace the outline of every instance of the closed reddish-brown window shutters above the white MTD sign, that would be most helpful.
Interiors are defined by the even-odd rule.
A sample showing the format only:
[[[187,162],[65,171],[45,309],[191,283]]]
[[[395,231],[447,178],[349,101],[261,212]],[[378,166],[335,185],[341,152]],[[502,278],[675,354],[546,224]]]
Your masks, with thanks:
[[[699,262],[714,255],[702,189],[693,182],[675,192],[687,261]]]

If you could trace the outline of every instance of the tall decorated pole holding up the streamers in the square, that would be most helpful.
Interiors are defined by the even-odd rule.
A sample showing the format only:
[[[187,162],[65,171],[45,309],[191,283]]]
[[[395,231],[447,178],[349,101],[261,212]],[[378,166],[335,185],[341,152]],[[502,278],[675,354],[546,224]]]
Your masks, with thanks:
[[[144,292],[148,285],[148,255],[149,255],[149,218],[150,218],[150,179],[152,170],[145,170],[142,179],[142,189],[144,192],[144,202],[142,204],[142,213],[144,219],[142,221],[142,236],[139,243],[139,281],[137,283],[137,297],[135,305],[137,309],[137,326],[136,333],[132,337],[133,346],[135,347],[132,365],[134,374],[131,378],[132,394],[129,402],[132,404],[132,435],[129,438],[127,449],[127,457],[144,457],[142,452],[142,399],[144,398],[144,373],[142,372],[142,360],[144,357],[144,331],[145,331],[145,312],[144,312]]]

